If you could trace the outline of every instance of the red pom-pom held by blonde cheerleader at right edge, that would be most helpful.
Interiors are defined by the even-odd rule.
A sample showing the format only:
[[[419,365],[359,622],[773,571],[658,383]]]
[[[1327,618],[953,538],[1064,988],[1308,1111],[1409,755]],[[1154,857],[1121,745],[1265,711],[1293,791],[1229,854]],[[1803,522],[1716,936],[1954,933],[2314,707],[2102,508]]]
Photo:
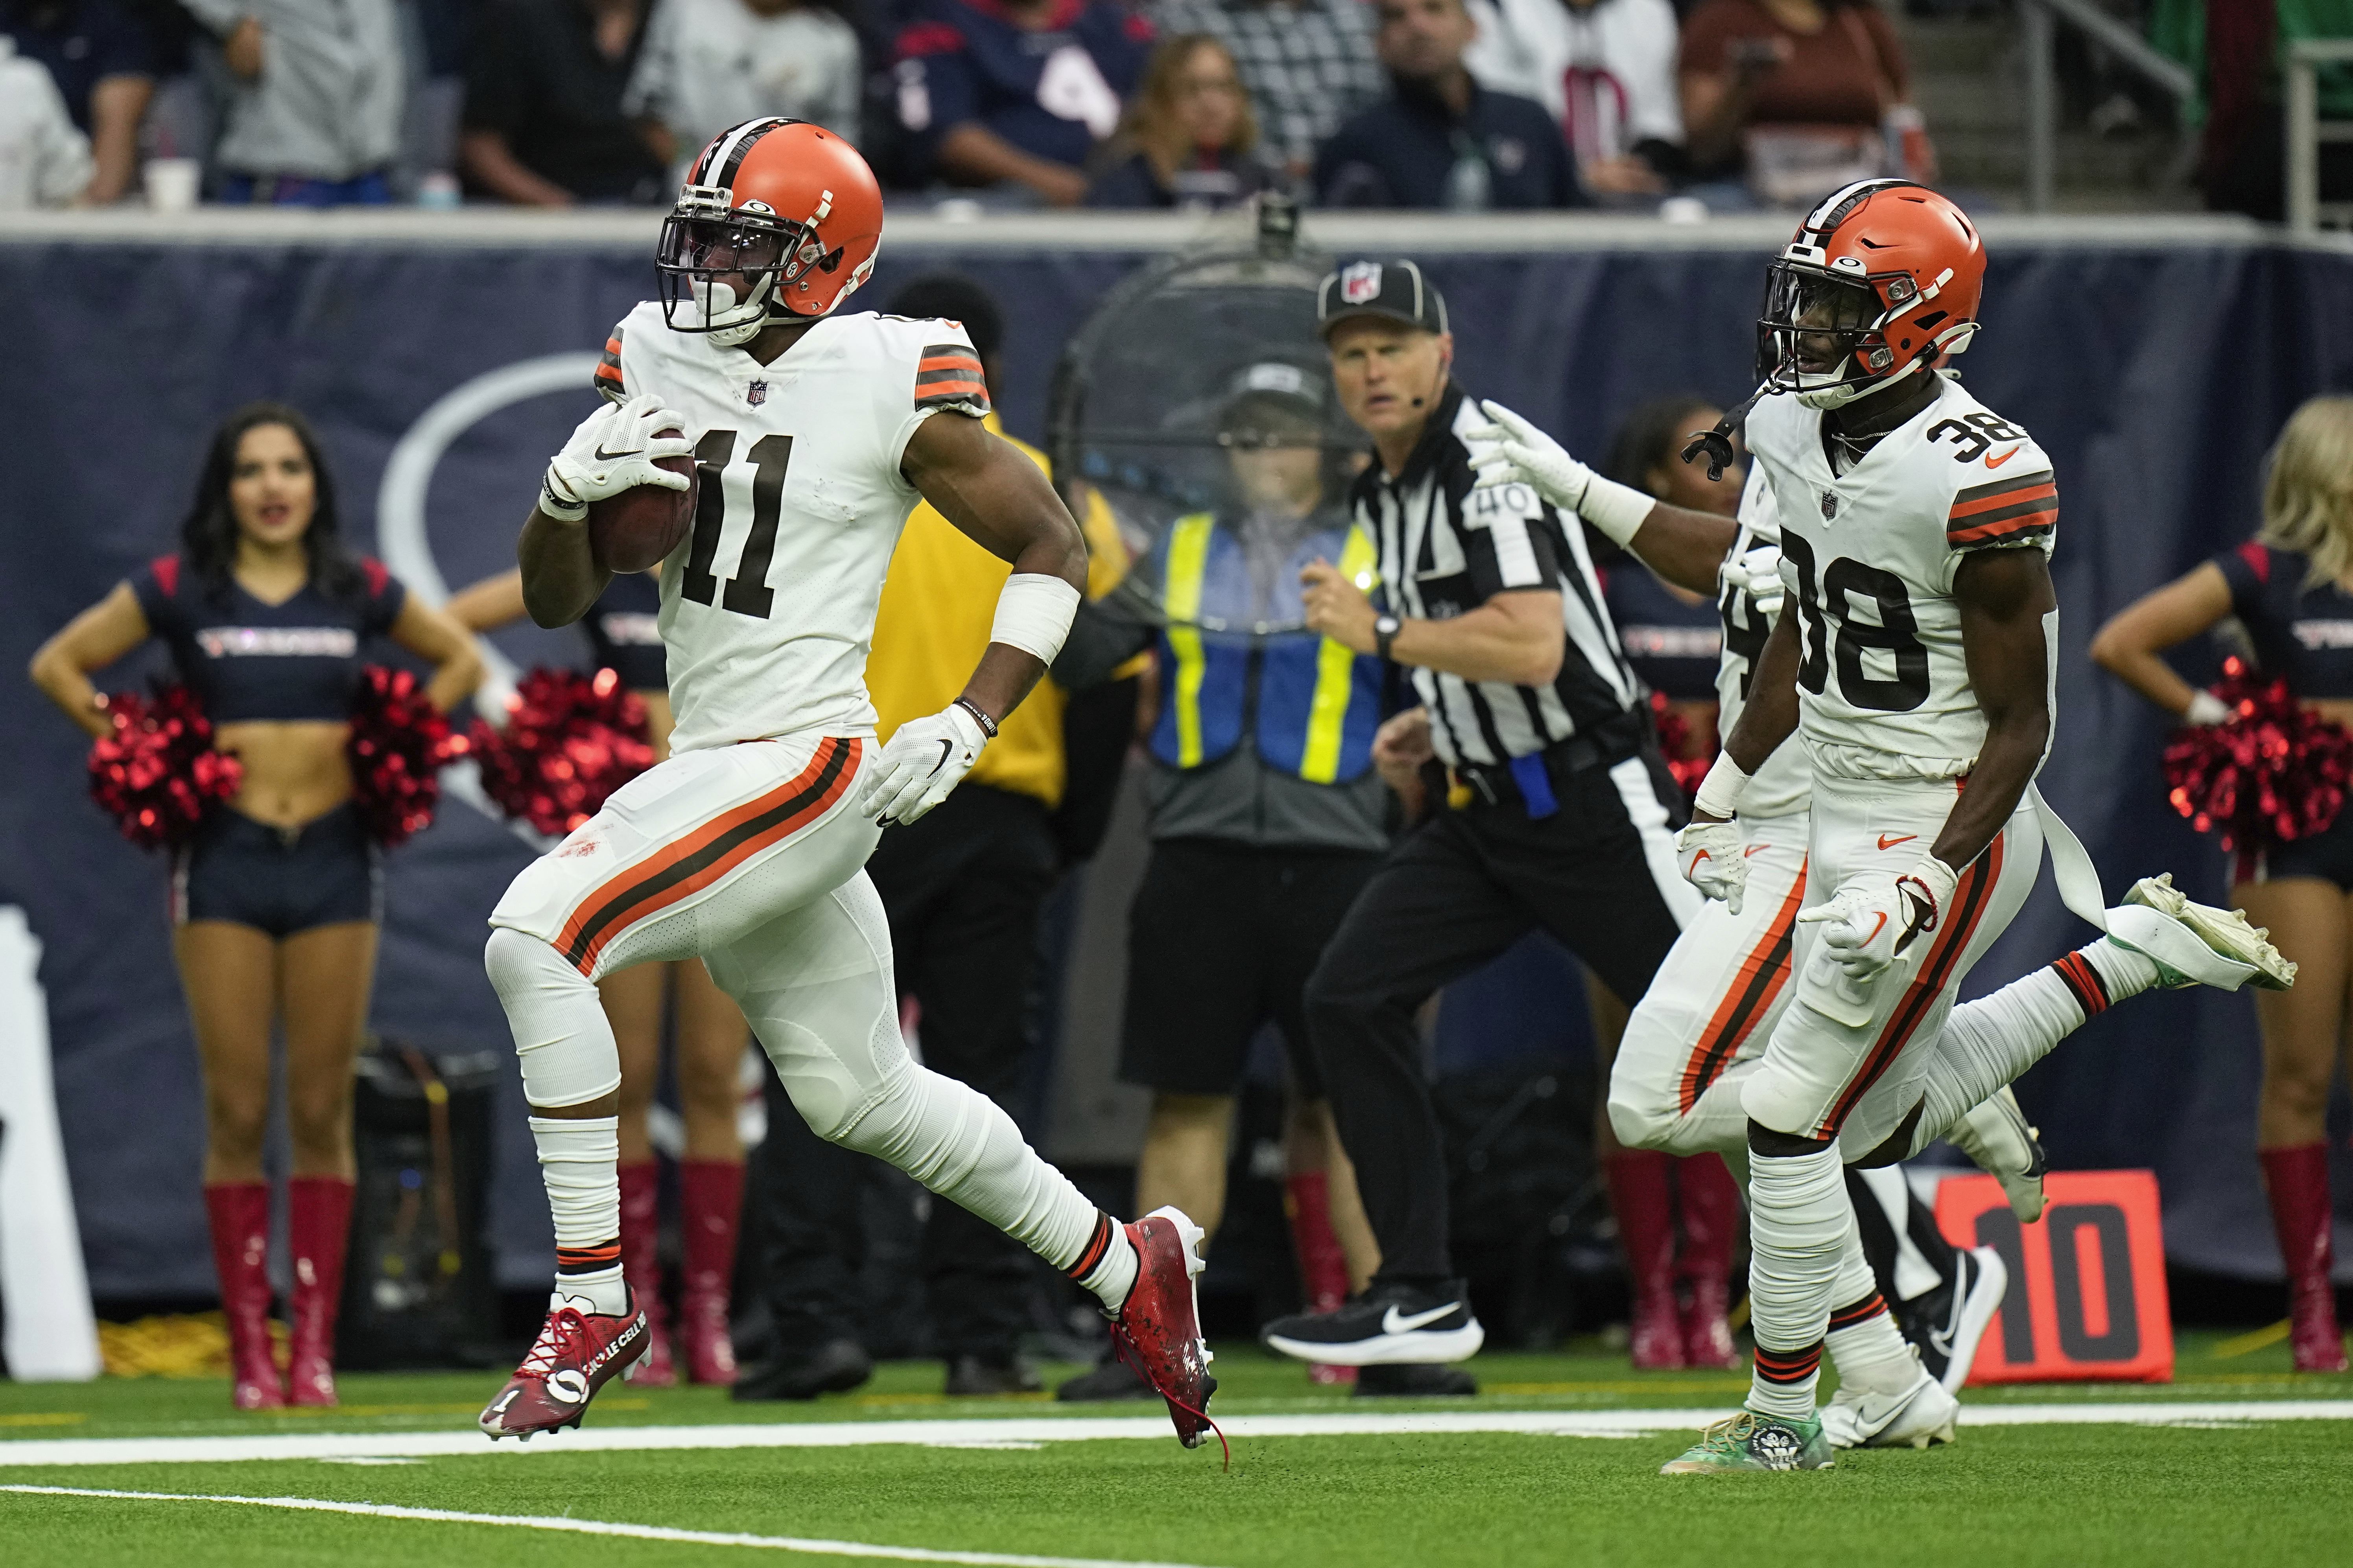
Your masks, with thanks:
[[[2257,851],[2327,832],[2353,780],[2353,736],[2226,658],[2214,696],[2231,719],[2165,743],[2165,799],[2224,849]]]

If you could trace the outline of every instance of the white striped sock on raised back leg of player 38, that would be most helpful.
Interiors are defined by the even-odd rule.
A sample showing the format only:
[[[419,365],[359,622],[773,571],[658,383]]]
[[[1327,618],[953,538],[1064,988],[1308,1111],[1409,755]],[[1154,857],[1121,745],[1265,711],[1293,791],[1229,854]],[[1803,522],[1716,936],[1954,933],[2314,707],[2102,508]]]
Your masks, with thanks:
[[[2031,976],[1944,1020],[1922,1079],[1922,1112],[1911,1154],[1944,1138],[1962,1117],[2052,1053],[2087,1018],[2139,997],[2158,983],[2158,966],[2108,938],[2087,943]],[[1901,1234],[1901,1232],[1899,1232]]]

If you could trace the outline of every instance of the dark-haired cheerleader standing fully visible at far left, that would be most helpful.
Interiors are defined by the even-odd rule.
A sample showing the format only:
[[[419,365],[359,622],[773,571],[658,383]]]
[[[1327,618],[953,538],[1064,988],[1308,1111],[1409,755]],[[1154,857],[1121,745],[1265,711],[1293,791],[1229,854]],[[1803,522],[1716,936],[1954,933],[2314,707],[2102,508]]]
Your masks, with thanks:
[[[433,665],[435,708],[480,656],[447,616],[344,548],[334,482],[294,409],[256,402],[212,437],[179,555],[165,555],[33,656],[33,682],[108,733],[89,672],[148,637],[242,762],[242,783],[172,863],[172,957],[205,1077],[205,1213],[240,1410],[334,1403],[334,1309],[351,1218],[351,1074],[367,1025],[384,877],[344,743],[369,637]],[[292,1363],[271,1352],[261,1143],[271,1027],[285,1034]]]

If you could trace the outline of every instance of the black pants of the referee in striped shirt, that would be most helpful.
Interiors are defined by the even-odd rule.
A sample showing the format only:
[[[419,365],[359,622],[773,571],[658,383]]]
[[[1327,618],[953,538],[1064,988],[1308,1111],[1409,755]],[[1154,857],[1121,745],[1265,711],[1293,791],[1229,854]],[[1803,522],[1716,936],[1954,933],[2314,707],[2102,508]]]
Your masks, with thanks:
[[[1560,809],[1537,820],[1518,799],[1442,811],[1391,851],[1332,936],[1308,978],[1308,1034],[1381,1244],[1377,1284],[1454,1279],[1414,1013],[1532,929],[1640,999],[1680,931],[1635,825],[1668,802],[1664,771],[1628,757],[1555,776]]]

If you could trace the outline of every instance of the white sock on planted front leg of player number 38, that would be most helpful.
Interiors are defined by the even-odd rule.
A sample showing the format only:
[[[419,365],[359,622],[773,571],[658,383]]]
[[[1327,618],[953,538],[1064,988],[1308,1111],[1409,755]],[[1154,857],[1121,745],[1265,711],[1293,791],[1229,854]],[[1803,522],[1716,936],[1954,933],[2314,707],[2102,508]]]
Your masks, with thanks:
[[[1807,1420],[1840,1262],[1849,1241],[1861,1253],[1835,1145],[1812,1154],[1751,1150],[1748,1241],[1748,1321],[1758,1340],[1748,1408]]]

